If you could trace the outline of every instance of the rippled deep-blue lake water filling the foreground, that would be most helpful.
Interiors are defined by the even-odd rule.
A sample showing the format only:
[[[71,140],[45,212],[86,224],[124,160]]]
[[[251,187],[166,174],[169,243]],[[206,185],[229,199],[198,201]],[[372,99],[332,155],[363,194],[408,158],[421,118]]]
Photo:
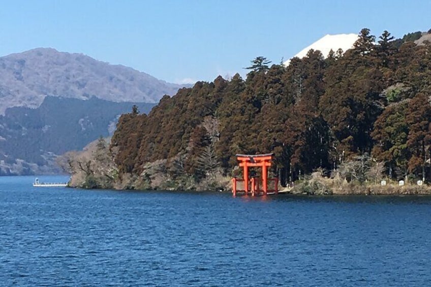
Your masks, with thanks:
[[[431,285],[430,197],[233,198],[33,181],[0,177],[0,285]]]

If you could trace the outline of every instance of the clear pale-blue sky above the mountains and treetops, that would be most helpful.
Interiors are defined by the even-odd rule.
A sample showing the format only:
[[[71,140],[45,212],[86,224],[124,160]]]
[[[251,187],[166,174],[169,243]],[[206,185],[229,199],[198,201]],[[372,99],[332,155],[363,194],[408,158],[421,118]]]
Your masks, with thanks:
[[[4,0],[0,56],[84,53],[168,82],[211,81],[256,56],[288,59],[326,34],[431,28],[430,0]]]

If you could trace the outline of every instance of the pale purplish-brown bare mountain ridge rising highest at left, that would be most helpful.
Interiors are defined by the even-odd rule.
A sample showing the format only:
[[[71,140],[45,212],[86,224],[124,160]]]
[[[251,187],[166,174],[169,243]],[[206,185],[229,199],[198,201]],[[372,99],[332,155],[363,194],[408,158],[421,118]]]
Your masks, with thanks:
[[[183,86],[84,54],[51,48],[0,57],[0,114],[9,107],[36,108],[47,95],[157,103],[164,94],[173,95]]]

